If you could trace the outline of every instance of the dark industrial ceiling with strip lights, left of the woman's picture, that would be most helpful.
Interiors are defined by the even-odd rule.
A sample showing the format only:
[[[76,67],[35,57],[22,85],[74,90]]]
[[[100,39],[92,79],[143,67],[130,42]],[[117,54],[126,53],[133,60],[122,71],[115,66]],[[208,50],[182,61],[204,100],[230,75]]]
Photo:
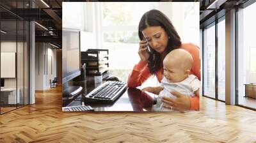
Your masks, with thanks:
[[[9,35],[12,33],[15,35],[16,19],[18,21],[35,20],[36,42],[51,42],[61,47],[61,6],[61,0],[1,0],[1,26],[4,27],[4,31],[8,31]],[[20,24],[21,22],[18,22],[17,25]],[[23,29],[17,29],[18,35],[22,33]]]

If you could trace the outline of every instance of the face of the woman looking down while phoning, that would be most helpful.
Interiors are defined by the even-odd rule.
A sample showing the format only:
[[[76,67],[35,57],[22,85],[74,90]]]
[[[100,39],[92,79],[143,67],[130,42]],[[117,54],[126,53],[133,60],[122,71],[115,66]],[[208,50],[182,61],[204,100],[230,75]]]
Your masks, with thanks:
[[[152,49],[159,53],[164,52],[168,44],[168,34],[161,26],[148,26],[142,34]]]

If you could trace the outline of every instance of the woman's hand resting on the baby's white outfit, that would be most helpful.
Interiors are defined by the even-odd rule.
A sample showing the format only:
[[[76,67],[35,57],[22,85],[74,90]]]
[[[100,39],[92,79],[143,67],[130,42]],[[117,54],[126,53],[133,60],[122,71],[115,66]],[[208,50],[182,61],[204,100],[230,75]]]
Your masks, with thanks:
[[[173,109],[173,110],[179,110],[179,112],[184,113],[185,110],[190,109],[190,100],[188,96],[185,96],[184,94],[177,93],[177,92],[171,92],[174,96],[177,98],[169,98],[166,96],[163,96],[162,102],[166,103],[168,105],[167,108]]]

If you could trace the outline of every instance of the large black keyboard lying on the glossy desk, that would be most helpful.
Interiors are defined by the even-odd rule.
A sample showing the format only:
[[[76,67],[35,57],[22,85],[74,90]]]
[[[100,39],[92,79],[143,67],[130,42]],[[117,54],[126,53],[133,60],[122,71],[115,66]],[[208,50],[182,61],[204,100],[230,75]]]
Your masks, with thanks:
[[[127,89],[125,82],[107,81],[85,96],[85,103],[114,103]]]

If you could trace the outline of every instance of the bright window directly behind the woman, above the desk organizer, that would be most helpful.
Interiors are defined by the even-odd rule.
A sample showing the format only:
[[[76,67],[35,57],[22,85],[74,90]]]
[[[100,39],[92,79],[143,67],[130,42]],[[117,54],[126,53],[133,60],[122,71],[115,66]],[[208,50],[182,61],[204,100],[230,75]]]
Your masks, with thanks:
[[[143,5],[143,6],[142,6]],[[109,70],[127,81],[138,56],[138,24],[157,3],[101,3],[102,48],[109,49]],[[99,38],[100,39],[100,38]],[[156,78],[154,78],[156,80]]]

